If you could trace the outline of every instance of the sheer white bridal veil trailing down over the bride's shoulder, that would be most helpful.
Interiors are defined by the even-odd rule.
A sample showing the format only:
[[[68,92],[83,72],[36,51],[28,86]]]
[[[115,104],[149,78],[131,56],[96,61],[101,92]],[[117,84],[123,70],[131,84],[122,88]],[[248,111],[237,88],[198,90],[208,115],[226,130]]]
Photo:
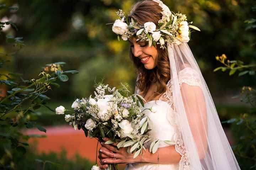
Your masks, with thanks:
[[[240,170],[190,47],[186,42],[167,42],[167,49],[176,122],[188,169]]]

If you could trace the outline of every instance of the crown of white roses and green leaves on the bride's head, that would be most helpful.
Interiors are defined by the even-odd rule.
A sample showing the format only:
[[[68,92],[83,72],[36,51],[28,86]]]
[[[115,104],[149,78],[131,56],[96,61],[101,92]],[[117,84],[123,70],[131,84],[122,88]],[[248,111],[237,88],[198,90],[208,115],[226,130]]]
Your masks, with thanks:
[[[199,28],[192,26],[193,22],[187,23],[186,15],[182,13],[171,12],[170,9],[160,0],[153,0],[159,4],[162,8],[162,19],[158,21],[158,29],[153,22],[146,22],[144,26],[138,24],[138,22],[132,17],[126,16],[122,10],[118,10],[116,13],[119,19],[113,24],[112,31],[123,40],[128,40],[131,36],[136,35],[137,41],[149,41],[149,46],[152,44],[160,44],[160,48],[166,48],[165,42],[172,42],[180,45],[181,42],[188,42],[190,40],[190,29],[200,31]]]

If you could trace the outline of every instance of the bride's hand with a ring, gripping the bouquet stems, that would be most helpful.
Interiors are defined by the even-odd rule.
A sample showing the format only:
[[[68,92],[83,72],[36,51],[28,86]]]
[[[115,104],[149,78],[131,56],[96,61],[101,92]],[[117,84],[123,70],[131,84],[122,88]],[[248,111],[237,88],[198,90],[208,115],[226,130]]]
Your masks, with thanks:
[[[104,141],[110,140],[109,138],[104,138]],[[120,163],[135,163],[140,162],[139,156],[135,159],[132,153],[127,152],[127,147],[117,148],[117,143],[105,144],[101,142],[101,148],[99,151],[99,158],[101,164],[120,164]],[[105,165],[103,166],[106,167]],[[100,167],[101,168],[101,167]]]

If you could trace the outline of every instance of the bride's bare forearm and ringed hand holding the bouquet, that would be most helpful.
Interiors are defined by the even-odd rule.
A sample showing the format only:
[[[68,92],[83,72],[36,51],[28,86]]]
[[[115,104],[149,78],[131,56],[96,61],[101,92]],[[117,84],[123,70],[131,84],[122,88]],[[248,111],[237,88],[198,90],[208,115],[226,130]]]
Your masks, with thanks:
[[[146,149],[146,151],[143,150],[142,154],[139,154],[136,158],[133,158],[134,154],[128,153],[127,147],[119,148],[118,150],[116,147],[116,143],[112,145],[101,143],[101,145],[102,147],[100,148],[99,158],[101,159],[100,162],[102,163],[102,165],[135,162],[174,164],[178,163],[181,159],[181,155],[176,152],[174,146],[159,148],[154,154],[150,153],[149,149]],[[100,168],[102,169],[107,167],[107,165],[102,165],[100,165]]]

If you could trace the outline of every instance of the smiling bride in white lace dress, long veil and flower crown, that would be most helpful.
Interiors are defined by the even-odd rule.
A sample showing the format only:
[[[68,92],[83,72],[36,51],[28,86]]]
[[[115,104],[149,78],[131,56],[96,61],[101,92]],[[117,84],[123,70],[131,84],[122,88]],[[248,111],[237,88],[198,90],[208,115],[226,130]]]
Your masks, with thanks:
[[[146,149],[133,158],[127,148],[101,143],[100,168],[126,163],[126,170],[240,170],[187,44],[189,28],[199,29],[160,0],[139,1],[130,15],[117,14],[112,30],[130,42],[138,71],[135,93],[144,97],[145,108],[154,110],[147,113],[148,134],[174,145],[162,142],[156,153]]]

